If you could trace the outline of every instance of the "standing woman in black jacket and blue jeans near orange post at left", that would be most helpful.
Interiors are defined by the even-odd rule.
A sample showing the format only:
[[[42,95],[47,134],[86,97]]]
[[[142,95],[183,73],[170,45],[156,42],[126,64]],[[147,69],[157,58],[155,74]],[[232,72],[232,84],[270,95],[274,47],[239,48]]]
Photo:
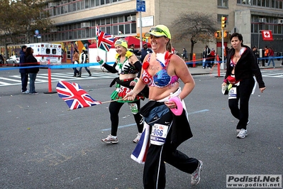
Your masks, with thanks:
[[[28,74],[30,77],[30,95],[37,95],[38,92],[35,91],[35,79],[38,74],[38,60],[33,56],[33,48],[26,48],[26,65],[28,67]]]

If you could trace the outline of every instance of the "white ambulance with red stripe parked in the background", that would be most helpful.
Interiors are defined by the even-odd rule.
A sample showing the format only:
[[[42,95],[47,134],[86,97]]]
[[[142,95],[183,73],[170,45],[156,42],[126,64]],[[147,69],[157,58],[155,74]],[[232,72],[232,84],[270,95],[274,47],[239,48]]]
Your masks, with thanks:
[[[27,47],[33,48],[33,56],[40,65],[60,65],[62,63],[62,46],[55,43],[30,43]]]

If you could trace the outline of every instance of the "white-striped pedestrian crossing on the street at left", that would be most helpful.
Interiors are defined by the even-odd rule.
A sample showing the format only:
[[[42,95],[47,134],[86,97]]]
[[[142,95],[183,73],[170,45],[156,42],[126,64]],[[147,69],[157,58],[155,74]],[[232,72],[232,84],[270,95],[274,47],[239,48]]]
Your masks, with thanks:
[[[114,78],[117,77],[116,74],[109,72],[92,72],[91,77],[88,74],[82,75],[82,77],[73,77],[73,72],[60,72],[60,73],[52,73],[51,74],[51,82],[58,82],[61,80],[95,80],[95,79],[103,79],[103,78]],[[36,83],[48,82],[48,73],[38,73],[36,75]],[[21,75],[11,75],[9,77],[0,77],[0,87],[1,86],[10,86],[10,85],[21,85]]]

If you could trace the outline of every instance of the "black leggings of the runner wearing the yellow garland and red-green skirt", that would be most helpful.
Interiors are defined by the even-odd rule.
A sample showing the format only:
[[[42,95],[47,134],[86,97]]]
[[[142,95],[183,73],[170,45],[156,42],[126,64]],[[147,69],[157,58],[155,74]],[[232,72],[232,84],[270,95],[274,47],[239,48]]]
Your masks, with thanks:
[[[121,102],[111,102],[109,105],[109,112],[110,112],[110,119],[111,119],[111,135],[112,136],[117,136],[117,131],[118,131],[118,123],[119,123],[119,111],[121,107],[123,106],[124,103]],[[138,106],[138,111],[140,110],[140,100],[135,101],[135,102],[129,102],[130,104],[137,104]],[[135,123],[138,126],[138,132],[142,133],[143,132],[143,117],[140,115],[138,112],[137,114],[133,114],[133,117],[135,118]]]

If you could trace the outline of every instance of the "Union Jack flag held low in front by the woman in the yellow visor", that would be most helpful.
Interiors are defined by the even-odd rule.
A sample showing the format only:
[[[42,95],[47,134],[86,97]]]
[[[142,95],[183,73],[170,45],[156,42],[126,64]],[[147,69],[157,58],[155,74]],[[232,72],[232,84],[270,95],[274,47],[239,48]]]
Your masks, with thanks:
[[[56,90],[59,97],[65,100],[70,109],[101,104],[101,102],[91,98],[91,96],[75,82],[60,81],[57,83]]]

